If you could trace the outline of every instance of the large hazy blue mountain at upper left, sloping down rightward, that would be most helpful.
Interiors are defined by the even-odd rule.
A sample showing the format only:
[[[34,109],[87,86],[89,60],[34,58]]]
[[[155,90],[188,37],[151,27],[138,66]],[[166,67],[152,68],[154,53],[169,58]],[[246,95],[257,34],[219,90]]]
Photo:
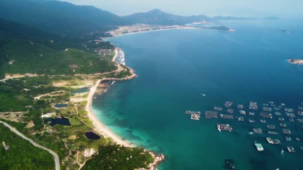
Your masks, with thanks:
[[[54,34],[106,31],[126,24],[109,11],[57,0],[0,0],[0,18]]]

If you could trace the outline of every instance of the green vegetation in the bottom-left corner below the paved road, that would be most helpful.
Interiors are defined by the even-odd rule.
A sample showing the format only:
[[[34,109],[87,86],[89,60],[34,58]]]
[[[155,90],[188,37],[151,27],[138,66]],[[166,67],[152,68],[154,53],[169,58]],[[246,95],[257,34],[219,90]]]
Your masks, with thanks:
[[[0,123],[0,170],[53,170],[52,156],[17,136]],[[9,146],[6,151],[2,142]]]

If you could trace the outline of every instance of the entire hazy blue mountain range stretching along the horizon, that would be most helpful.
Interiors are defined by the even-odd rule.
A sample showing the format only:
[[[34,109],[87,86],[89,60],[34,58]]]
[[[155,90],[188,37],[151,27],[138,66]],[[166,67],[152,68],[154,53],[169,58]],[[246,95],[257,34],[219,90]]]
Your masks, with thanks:
[[[52,34],[78,34],[108,31],[117,26],[135,23],[183,25],[202,20],[257,19],[207,15],[181,16],[153,9],[148,12],[118,16],[88,5],[75,5],[57,0],[1,0],[0,18],[32,26]],[[268,17],[265,19],[277,19]]]

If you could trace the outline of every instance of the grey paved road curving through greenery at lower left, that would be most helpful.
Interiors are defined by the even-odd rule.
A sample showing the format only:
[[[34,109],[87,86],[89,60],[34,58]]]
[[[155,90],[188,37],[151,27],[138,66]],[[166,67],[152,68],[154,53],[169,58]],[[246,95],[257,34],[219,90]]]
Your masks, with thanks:
[[[45,148],[45,147],[43,147],[43,146],[41,146],[41,145],[35,143],[33,140],[27,138],[27,137],[24,136],[22,133],[20,133],[19,131],[17,131],[15,128],[11,127],[9,124],[7,124],[7,123],[5,123],[5,122],[2,122],[1,120],[0,120],[0,123],[2,123],[4,126],[8,127],[12,132],[16,133],[16,134],[19,135],[21,138],[23,138],[23,139],[27,140],[28,142],[30,142],[30,143],[31,143],[32,145],[34,145],[35,147],[41,148],[41,149],[43,149],[43,150],[45,150],[45,151],[48,151],[48,152],[54,157],[56,170],[60,170],[59,157],[58,157],[58,155],[57,155],[54,151],[52,151],[52,150],[50,150],[50,149],[47,149],[47,148]]]

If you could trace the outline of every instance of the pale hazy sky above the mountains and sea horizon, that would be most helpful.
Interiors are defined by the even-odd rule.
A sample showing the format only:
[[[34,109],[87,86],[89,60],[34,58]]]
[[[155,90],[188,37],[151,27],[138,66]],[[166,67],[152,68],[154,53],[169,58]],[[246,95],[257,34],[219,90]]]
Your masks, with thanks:
[[[303,0],[62,0],[74,4],[94,5],[118,15],[159,8],[181,14],[231,16],[303,16]]]

